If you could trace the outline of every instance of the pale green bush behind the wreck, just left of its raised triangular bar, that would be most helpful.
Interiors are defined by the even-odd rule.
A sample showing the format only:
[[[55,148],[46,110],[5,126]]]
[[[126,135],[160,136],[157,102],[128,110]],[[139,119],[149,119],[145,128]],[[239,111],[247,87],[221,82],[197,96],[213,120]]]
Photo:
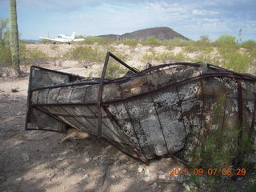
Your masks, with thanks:
[[[89,66],[96,62],[104,62],[105,53],[93,46],[74,46],[65,54],[66,58],[78,61],[83,66]]]

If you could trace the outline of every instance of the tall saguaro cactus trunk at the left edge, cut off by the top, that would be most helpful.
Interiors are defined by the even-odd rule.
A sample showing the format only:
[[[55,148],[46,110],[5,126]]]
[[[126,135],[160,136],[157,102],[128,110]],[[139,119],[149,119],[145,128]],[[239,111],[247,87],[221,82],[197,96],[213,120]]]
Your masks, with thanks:
[[[19,46],[18,46],[18,23],[17,23],[17,11],[16,0],[10,0],[10,49],[13,62],[13,68],[18,77],[21,76],[21,70],[19,67]]]

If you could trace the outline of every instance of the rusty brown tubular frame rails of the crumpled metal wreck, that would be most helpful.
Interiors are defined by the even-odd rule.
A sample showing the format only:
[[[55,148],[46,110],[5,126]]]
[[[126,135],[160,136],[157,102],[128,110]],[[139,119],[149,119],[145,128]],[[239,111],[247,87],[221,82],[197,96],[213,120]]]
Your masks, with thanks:
[[[72,84],[67,83],[67,84],[62,84],[62,85],[57,85],[57,86],[45,86],[45,87],[34,89],[34,90],[44,90],[44,89],[59,88],[59,87],[66,87],[66,86],[83,86],[83,85],[94,85],[94,84],[99,84],[99,89],[98,89],[98,101],[97,102],[46,103],[46,104],[36,103],[36,104],[31,104],[30,103],[31,91],[34,91],[34,90],[31,90],[31,86],[29,86],[29,91],[28,91],[28,108],[29,108],[29,110],[30,110],[30,107],[36,107],[36,106],[95,106],[96,105],[97,109],[98,109],[98,137],[101,137],[102,136],[102,106],[108,106],[110,104],[114,104],[114,103],[118,103],[118,102],[127,102],[127,101],[130,101],[130,100],[136,99],[136,98],[150,96],[152,94],[156,94],[160,91],[166,90],[170,86],[182,86],[182,85],[185,85],[185,84],[190,83],[190,82],[195,82],[195,81],[201,80],[202,78],[235,78],[238,81],[239,80],[256,81],[256,78],[254,76],[249,75],[249,74],[238,74],[234,71],[226,70],[226,69],[224,69],[222,67],[219,67],[219,66],[214,66],[214,65],[211,65],[211,64],[207,64],[207,67],[209,67],[213,70],[217,70],[217,73],[200,74],[196,77],[187,78],[187,79],[182,80],[180,82],[170,83],[170,84],[167,84],[166,86],[158,88],[157,90],[151,90],[147,93],[134,95],[130,98],[119,98],[119,99],[114,99],[112,101],[102,102],[102,91],[103,91],[104,84],[109,84],[109,83],[113,83],[113,82],[126,82],[126,81],[130,80],[130,78],[127,78],[127,77],[125,77],[125,78],[116,78],[114,80],[105,78],[106,70],[107,70],[107,66],[108,66],[108,62],[109,62],[110,57],[114,58],[116,61],[121,63],[122,66],[126,66],[126,68],[133,71],[134,72],[134,77],[132,77],[132,78],[142,76],[144,74],[150,73],[151,71],[159,70],[159,69],[164,68],[166,66],[182,66],[182,65],[183,66],[194,66],[194,67],[202,66],[202,64],[200,64],[200,63],[178,62],[178,63],[170,63],[170,64],[163,64],[163,65],[159,65],[159,66],[153,66],[153,67],[150,67],[146,70],[139,71],[139,70],[136,70],[133,67],[127,65],[125,62],[122,62],[122,60],[120,58],[116,57],[114,54],[108,52],[106,54],[106,59],[105,59],[104,65],[103,65],[101,78],[93,78],[92,81],[90,81],[90,82],[88,82],[88,81],[86,81],[86,82],[74,82],[76,80],[83,80],[85,78],[82,78],[80,76],[76,76],[76,75],[73,75],[73,74],[57,72],[55,70],[44,69],[44,68],[38,67],[38,66],[31,66],[31,68],[35,67],[35,68],[38,68],[39,70],[40,69],[41,70],[48,70],[48,71],[54,72],[54,73],[69,75],[70,82],[73,82]],[[31,79],[30,79],[30,82],[31,82]],[[238,91],[239,92],[238,103],[240,103],[240,105],[239,105],[240,106],[239,107],[239,109],[240,109],[239,117],[240,118],[239,119],[240,119],[240,122],[242,122],[241,87],[238,86],[238,88],[239,88],[238,90],[240,90],[240,91]],[[28,114],[29,114],[29,112],[28,112]],[[28,117],[26,117],[26,122],[27,122],[27,118]]]

